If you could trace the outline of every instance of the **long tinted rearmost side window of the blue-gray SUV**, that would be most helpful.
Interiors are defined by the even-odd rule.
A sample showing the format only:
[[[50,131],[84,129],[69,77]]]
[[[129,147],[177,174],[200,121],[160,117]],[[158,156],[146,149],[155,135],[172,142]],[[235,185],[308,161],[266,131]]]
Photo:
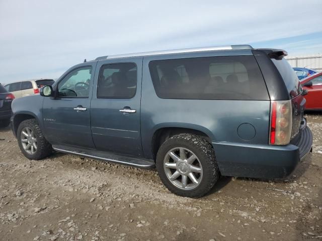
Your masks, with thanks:
[[[149,69],[160,98],[269,100],[254,56],[155,60]]]

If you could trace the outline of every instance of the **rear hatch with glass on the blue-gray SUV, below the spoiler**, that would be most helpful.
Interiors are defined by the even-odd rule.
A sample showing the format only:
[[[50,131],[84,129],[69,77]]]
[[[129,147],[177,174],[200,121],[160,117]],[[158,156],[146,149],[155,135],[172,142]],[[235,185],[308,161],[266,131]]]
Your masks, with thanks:
[[[272,61],[282,76],[292,103],[292,142],[292,140],[298,136],[299,132],[305,128],[306,122],[303,115],[306,100],[304,96],[301,95],[302,87],[290,64],[284,58],[272,59]]]

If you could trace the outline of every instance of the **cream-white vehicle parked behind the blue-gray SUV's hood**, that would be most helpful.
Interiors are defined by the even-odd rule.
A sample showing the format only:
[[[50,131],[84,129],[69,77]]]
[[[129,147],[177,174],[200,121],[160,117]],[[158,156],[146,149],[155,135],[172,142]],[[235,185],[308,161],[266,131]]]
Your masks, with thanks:
[[[53,79],[33,79],[20,82],[14,82],[5,85],[5,88],[13,93],[16,98],[39,94],[39,89],[44,85],[52,85]]]

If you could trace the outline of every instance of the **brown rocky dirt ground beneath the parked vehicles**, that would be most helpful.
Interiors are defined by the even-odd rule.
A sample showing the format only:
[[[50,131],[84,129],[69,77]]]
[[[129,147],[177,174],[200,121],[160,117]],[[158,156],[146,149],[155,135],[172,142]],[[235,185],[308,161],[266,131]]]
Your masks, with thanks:
[[[221,177],[199,199],[170,193],[155,170],[30,161],[0,129],[0,240],[322,240],[322,115],[306,117],[313,153],[291,176]]]

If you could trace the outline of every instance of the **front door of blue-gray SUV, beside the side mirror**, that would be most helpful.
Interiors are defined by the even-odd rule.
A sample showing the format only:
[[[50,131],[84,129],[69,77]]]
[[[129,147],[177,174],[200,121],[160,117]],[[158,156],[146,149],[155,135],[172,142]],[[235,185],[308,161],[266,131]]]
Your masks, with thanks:
[[[53,86],[56,97],[44,97],[45,135],[52,144],[94,149],[90,102],[95,63],[84,63],[67,73]]]

